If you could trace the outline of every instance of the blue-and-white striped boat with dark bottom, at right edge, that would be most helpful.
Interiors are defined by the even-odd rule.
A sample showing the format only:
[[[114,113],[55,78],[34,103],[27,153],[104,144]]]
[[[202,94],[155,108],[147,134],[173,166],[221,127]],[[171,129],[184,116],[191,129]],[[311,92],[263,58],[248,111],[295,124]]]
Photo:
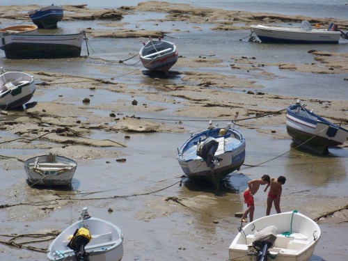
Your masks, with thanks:
[[[286,128],[294,143],[319,154],[328,153],[329,147],[341,145],[348,138],[348,129],[317,116],[300,100],[287,107]]]

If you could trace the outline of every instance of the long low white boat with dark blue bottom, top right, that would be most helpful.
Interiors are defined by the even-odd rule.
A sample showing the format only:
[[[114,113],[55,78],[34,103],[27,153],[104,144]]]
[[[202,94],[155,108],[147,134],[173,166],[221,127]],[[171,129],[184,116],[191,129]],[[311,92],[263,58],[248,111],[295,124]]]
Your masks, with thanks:
[[[340,31],[312,29],[303,31],[301,28],[252,25],[251,30],[262,42],[293,42],[293,43],[338,43]]]

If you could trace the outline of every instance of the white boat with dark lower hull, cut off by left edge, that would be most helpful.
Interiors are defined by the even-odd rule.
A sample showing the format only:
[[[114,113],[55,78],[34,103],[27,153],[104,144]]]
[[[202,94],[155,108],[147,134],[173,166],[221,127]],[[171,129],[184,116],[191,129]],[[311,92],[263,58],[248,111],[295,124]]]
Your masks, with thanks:
[[[34,79],[24,72],[4,72],[0,75],[0,106],[16,108],[33,97]]]

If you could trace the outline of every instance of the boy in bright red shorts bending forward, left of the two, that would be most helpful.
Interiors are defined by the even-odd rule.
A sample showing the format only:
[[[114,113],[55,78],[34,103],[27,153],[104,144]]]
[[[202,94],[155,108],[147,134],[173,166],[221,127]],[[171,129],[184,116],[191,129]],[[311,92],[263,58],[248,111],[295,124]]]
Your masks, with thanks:
[[[254,219],[254,198],[253,195],[255,195],[256,192],[258,192],[258,189],[260,188],[260,185],[268,184],[266,189],[269,187],[270,177],[269,175],[263,175],[260,179],[251,180],[248,182],[248,187],[244,191],[244,203],[246,203],[246,211],[244,212],[242,216],[242,222],[248,222],[246,220],[246,217],[249,215],[250,221],[253,221]],[[266,189],[264,189],[264,192],[266,192]]]

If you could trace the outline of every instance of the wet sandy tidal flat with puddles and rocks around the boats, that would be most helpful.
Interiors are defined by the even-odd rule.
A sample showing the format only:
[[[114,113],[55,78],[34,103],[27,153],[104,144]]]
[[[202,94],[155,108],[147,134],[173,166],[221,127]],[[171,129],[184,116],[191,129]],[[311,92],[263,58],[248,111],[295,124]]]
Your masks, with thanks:
[[[0,6],[1,26],[30,23],[25,12],[39,4]],[[209,1],[62,4],[63,21],[50,32],[86,31],[81,58],[17,60],[0,52],[3,69],[28,72],[37,82],[23,110],[0,117],[1,241],[15,233],[61,231],[88,207],[122,229],[122,260],[228,260],[246,182],[267,173],[287,177],[283,212],[296,209],[315,219],[342,209],[318,221],[322,239],[310,260],[348,258],[348,143],[325,156],[294,150],[282,111],[301,99],[347,128],[348,41],[271,45],[246,38],[253,23],[303,18],[347,31],[344,17],[251,13],[226,8],[224,1],[216,7]],[[139,63],[150,35],[179,49],[166,76],[149,74]],[[232,126],[246,136],[245,166],[223,180],[219,193],[182,180],[176,153],[189,132],[205,129],[209,120],[223,127],[243,118],[252,119]],[[26,183],[23,161],[48,152],[77,161],[72,187]],[[262,191],[255,195],[255,218],[264,216],[266,198]],[[47,248],[49,240],[29,245]],[[0,244],[0,257],[47,260],[45,253],[6,244]]]

